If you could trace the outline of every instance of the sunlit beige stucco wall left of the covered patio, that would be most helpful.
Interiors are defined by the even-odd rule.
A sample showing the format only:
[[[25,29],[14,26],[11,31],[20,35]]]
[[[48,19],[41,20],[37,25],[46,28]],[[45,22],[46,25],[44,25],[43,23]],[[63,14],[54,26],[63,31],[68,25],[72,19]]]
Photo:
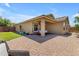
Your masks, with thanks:
[[[15,27],[16,27],[16,31],[20,31],[20,26],[21,25],[21,27],[22,27],[22,31],[23,32],[26,32],[26,33],[29,33],[29,34],[32,34],[32,21],[30,21],[30,22],[27,22],[27,23],[23,23],[23,24],[18,24],[18,25],[16,25]]]

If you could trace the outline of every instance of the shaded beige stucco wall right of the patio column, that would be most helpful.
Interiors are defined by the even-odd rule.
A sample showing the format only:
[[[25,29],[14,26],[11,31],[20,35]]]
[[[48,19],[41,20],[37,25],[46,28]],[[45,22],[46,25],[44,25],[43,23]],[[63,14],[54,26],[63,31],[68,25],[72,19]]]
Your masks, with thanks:
[[[63,29],[63,22],[59,23],[47,23],[46,29],[49,33],[56,33],[56,34],[64,34],[66,31]]]

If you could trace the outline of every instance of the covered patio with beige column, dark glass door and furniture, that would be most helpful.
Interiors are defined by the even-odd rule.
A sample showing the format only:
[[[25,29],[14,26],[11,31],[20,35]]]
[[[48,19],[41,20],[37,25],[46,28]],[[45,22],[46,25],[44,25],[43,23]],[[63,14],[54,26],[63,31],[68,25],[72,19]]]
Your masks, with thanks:
[[[57,21],[51,19],[35,20],[33,21],[33,33],[40,34],[41,36],[45,36],[46,33],[52,33],[50,26],[56,23]]]

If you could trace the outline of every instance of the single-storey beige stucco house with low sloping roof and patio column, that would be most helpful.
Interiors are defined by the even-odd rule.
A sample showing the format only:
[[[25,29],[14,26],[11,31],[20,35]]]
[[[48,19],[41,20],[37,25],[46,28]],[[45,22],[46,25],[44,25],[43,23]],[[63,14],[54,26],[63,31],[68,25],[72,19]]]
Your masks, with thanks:
[[[16,31],[29,34],[46,33],[65,34],[69,32],[67,16],[55,18],[52,14],[41,15],[15,25]]]

